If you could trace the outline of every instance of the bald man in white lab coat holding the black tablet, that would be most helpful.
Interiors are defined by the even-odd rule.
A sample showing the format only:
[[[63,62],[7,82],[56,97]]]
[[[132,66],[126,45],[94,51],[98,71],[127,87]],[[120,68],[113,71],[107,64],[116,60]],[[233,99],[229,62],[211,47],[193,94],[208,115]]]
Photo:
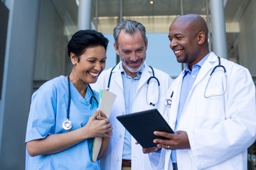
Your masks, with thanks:
[[[169,27],[171,50],[186,64],[167,93],[174,134],[154,142],[160,159],[154,169],[247,169],[247,148],[255,142],[255,84],[239,64],[208,50],[206,21],[196,14],[178,16]],[[143,149],[144,153],[156,153]],[[153,157],[152,157],[153,158]]]

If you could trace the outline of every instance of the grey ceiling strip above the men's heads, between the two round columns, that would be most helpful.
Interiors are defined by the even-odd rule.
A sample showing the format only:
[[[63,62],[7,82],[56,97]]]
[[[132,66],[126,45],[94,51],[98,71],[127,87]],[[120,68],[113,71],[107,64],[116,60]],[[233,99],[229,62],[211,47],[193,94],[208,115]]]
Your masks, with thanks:
[[[123,0],[123,16],[173,16],[181,14],[181,0]],[[99,16],[119,16],[120,0],[99,0]],[[206,13],[206,3],[202,0],[183,0],[186,13]]]

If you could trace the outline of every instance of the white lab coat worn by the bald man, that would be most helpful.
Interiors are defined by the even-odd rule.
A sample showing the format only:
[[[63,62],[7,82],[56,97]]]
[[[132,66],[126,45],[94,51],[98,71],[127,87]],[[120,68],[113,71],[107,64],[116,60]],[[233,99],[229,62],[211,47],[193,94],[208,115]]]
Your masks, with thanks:
[[[181,113],[177,130],[188,133],[191,149],[177,150],[178,170],[247,169],[247,147],[255,142],[255,84],[245,67],[221,59],[228,74],[224,96],[204,97],[206,84],[217,56],[211,52],[201,67]],[[169,110],[169,125],[174,129],[184,72],[171,84],[174,91]],[[215,79],[218,84],[218,79]],[[217,86],[217,85],[216,85]],[[218,91],[215,85],[209,90]],[[158,169],[172,169],[171,150],[162,149]]]

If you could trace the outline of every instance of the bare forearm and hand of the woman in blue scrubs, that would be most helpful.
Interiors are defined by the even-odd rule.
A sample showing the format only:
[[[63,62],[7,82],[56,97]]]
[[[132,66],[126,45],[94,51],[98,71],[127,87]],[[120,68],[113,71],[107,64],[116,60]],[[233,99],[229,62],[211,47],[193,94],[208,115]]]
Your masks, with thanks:
[[[105,137],[104,139],[110,139],[111,136],[112,126],[110,119],[97,110],[84,127],[65,133],[48,135],[44,139],[26,142],[26,147],[28,148],[28,154],[34,157],[41,154],[61,152],[88,138]]]

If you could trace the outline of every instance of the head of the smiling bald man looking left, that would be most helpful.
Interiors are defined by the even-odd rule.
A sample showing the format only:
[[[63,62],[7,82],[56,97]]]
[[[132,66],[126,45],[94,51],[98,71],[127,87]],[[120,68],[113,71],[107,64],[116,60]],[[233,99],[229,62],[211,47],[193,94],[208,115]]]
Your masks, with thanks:
[[[202,23],[201,18],[181,16],[176,18],[169,28],[170,47],[176,60],[188,63],[190,68],[208,52],[205,26]]]

